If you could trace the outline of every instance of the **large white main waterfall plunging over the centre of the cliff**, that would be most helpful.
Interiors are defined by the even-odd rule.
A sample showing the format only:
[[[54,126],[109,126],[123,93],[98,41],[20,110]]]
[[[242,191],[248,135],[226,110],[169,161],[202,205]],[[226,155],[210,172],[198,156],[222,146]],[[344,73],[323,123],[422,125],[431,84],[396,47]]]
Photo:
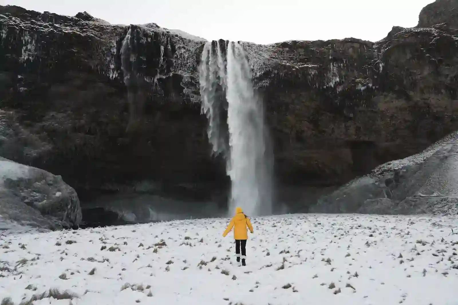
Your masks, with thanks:
[[[272,149],[262,101],[251,78],[245,51],[239,43],[205,44],[199,67],[202,112],[208,118],[208,139],[213,152],[226,157],[226,172],[231,179],[229,214],[240,206],[245,214],[257,216],[272,213]],[[225,101],[219,98],[218,91]],[[227,117],[222,118],[224,102]],[[224,123],[229,140],[221,133]]]

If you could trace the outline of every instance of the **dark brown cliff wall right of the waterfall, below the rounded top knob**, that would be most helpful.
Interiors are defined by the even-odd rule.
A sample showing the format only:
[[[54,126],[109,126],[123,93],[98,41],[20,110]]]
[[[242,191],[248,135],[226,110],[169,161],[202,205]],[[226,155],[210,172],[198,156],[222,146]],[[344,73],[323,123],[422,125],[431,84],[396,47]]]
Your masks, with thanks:
[[[338,184],[456,130],[457,43],[438,29],[398,28],[378,43],[256,46],[278,60],[258,78],[277,169]]]

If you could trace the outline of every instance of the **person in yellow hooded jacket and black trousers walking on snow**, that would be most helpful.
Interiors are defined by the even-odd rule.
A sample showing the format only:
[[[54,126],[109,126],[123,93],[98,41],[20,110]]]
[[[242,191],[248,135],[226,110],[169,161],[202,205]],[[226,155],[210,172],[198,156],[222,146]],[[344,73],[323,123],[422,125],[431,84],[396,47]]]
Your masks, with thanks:
[[[235,209],[235,216],[232,217],[230,223],[223,233],[223,237],[226,237],[230,230],[234,227],[234,239],[235,239],[235,254],[237,256],[237,262],[240,262],[240,248],[242,257],[242,266],[246,266],[246,240],[248,239],[248,232],[246,227],[253,233],[253,226],[251,225],[250,219],[243,214],[242,208]]]

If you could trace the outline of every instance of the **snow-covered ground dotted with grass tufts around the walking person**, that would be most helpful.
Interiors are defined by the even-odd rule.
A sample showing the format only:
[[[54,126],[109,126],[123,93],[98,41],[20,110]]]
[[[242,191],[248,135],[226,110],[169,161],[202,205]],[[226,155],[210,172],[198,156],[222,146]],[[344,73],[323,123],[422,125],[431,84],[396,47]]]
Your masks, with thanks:
[[[36,295],[44,299],[35,305],[458,302],[456,218],[255,218],[246,267],[235,262],[232,235],[222,237],[227,222],[1,234],[0,300],[11,297],[17,305]],[[63,300],[46,298],[49,289]]]

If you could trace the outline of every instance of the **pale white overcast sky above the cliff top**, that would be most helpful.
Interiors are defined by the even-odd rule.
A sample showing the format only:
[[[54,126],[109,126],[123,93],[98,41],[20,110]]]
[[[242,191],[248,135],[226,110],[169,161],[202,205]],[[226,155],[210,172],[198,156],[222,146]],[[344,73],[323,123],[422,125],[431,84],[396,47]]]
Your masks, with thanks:
[[[377,41],[414,27],[434,0],[0,0],[33,11],[87,11],[112,24],[155,22],[211,39],[276,43],[355,37]]]

